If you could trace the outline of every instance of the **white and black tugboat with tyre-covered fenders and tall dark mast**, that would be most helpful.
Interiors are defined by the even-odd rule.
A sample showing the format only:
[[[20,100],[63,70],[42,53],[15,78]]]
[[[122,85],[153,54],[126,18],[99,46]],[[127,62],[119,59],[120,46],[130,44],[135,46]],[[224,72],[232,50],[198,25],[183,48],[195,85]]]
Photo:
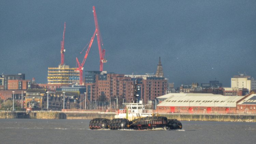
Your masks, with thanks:
[[[137,82],[134,84],[134,100],[138,101]],[[167,117],[154,114],[153,110],[145,109],[142,103],[128,103],[126,109],[119,109],[115,118],[94,118],[90,121],[90,129],[133,129],[151,130],[163,128],[167,130],[182,129],[182,124],[177,119],[167,119]]]

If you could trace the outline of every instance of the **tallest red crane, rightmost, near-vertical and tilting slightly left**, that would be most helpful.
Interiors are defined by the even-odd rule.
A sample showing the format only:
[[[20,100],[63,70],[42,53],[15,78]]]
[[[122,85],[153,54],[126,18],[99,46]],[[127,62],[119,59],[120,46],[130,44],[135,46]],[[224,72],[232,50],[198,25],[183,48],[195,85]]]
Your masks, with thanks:
[[[103,71],[103,63],[106,63],[107,61],[104,59],[105,57],[105,49],[101,50],[101,46],[103,46],[102,38],[100,35],[100,29],[98,26],[98,20],[97,15],[95,11],[95,6],[93,6],[93,15],[94,15],[94,23],[96,28],[96,35],[97,35],[97,41],[98,41],[98,48],[99,48],[99,54],[100,54],[100,71]]]

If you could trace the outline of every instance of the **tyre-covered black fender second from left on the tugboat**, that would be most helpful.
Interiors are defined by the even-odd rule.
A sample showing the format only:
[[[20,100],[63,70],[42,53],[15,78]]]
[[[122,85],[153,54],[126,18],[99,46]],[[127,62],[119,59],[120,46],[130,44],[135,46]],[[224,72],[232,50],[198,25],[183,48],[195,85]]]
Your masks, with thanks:
[[[131,122],[125,118],[114,118],[109,123],[109,129],[128,129]]]

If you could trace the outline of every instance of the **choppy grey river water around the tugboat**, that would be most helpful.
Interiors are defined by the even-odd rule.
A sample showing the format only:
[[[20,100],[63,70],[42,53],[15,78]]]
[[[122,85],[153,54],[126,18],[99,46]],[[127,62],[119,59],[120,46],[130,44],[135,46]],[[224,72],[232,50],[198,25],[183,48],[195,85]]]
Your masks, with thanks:
[[[0,119],[0,143],[253,144],[256,123],[182,122],[183,130],[89,130],[90,120]]]

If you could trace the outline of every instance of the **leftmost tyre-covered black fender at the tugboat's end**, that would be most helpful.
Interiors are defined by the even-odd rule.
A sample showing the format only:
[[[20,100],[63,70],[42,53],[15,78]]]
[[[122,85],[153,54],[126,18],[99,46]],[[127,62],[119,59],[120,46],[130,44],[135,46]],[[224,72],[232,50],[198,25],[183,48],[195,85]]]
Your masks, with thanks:
[[[94,118],[90,121],[90,129],[107,129],[109,126],[110,120],[106,118]]]

